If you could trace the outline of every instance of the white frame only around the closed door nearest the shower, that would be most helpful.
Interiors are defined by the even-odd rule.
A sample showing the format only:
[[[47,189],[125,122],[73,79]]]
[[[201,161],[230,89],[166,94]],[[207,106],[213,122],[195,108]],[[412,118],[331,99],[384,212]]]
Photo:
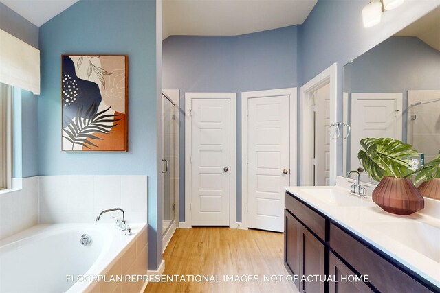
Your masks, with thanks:
[[[191,104],[192,99],[229,99],[230,100],[230,185],[229,185],[229,226],[236,228],[236,93],[185,93],[185,222],[182,228],[191,228]]]

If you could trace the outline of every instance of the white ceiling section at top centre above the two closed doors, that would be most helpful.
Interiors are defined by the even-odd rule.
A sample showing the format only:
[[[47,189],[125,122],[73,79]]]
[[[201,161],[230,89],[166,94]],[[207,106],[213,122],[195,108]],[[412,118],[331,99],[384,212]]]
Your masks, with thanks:
[[[163,38],[236,36],[302,24],[318,0],[164,0]]]

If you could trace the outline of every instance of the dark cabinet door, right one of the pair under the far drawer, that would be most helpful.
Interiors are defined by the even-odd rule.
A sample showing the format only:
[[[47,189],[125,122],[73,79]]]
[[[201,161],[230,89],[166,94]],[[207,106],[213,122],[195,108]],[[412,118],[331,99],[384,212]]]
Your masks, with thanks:
[[[301,292],[324,293],[325,246],[302,225],[300,226],[300,271]]]

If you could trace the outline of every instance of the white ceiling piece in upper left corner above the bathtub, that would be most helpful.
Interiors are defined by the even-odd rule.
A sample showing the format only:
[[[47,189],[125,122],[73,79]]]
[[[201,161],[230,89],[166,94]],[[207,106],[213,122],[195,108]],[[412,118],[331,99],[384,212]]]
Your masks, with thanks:
[[[0,0],[37,27],[60,14],[78,0]]]

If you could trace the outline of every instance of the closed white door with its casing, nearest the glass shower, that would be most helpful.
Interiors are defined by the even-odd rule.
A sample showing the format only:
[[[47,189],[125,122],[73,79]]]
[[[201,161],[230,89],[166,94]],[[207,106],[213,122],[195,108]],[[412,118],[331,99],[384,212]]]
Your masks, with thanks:
[[[236,95],[186,93],[185,105],[184,226],[234,227]]]

